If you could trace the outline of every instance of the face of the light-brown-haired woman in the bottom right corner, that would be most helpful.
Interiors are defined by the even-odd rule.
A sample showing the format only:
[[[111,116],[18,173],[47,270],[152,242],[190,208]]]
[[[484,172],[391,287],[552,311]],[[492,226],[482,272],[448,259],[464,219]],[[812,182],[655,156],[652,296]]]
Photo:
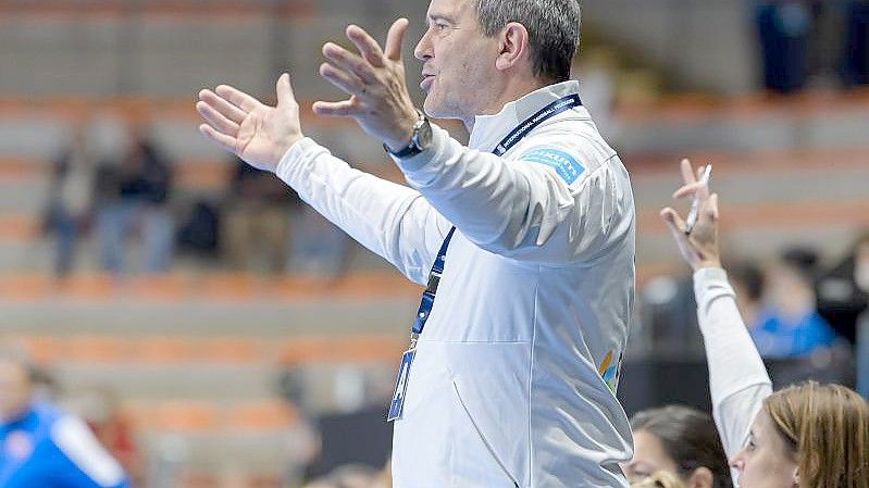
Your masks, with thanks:
[[[772,418],[761,409],[755,417],[748,442],[730,462],[740,472],[743,488],[792,488],[796,461]]]

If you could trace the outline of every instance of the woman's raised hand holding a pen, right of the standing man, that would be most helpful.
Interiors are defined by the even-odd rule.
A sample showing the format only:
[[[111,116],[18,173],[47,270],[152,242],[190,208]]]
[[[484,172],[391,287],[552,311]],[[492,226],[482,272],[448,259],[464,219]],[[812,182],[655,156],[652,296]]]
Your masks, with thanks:
[[[703,168],[698,168],[698,173]],[[718,195],[709,195],[709,187],[695,176],[691,161],[682,160],[684,185],[675,190],[673,198],[697,197],[697,223],[685,234],[685,221],[670,207],[661,210],[661,217],[670,229],[679,252],[693,270],[721,267],[718,247]]]

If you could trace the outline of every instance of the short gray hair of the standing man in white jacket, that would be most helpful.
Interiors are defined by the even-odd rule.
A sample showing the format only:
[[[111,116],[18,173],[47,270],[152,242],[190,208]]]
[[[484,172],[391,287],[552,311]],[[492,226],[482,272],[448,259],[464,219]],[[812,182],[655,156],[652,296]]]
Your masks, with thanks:
[[[529,32],[534,75],[554,82],[570,78],[580,43],[581,0],[474,0],[483,34],[494,36],[511,22]]]

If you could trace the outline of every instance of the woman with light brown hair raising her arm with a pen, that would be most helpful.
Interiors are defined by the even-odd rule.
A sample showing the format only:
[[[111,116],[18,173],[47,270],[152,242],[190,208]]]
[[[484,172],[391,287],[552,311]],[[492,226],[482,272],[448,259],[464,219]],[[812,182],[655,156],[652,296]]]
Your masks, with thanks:
[[[661,217],[694,270],[697,316],[709,363],[712,410],[742,488],[869,488],[869,405],[848,388],[805,383],[772,392],[772,383],[736,309],[721,267],[718,196],[682,161],[697,221],[671,208]]]

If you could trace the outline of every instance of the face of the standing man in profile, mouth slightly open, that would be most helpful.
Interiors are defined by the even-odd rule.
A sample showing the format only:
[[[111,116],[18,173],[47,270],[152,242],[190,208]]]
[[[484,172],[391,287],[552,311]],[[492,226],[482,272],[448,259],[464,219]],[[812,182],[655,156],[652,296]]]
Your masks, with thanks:
[[[423,62],[425,113],[473,122],[486,109],[486,85],[496,75],[497,37],[483,35],[472,0],[432,0],[426,22],[414,50]]]

